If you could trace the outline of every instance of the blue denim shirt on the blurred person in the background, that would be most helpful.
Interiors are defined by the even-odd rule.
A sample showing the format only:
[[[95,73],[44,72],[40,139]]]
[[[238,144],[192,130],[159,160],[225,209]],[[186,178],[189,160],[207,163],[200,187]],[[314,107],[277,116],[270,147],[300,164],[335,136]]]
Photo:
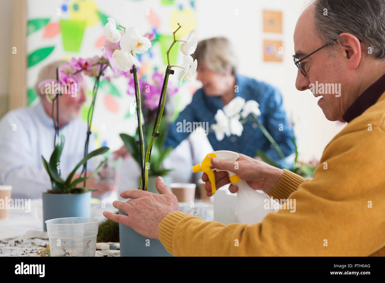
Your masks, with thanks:
[[[235,93],[236,96],[241,96],[246,101],[256,100],[258,102],[259,110],[261,111],[261,116],[258,117],[259,122],[271,134],[280,146],[283,154],[287,157],[295,152],[295,146],[291,141],[293,129],[288,124],[279,90],[265,82],[259,82],[239,74],[236,74],[236,85],[238,85],[238,92]],[[218,109],[223,109],[221,97],[206,96],[203,88],[197,90],[192,97],[191,103],[169,125],[165,146],[176,147],[190,134],[188,131],[181,132],[181,127],[177,130],[178,126],[183,125],[183,120],[185,120],[184,124],[187,122],[202,122],[205,125],[208,122],[210,127],[211,124],[216,123],[214,115]],[[243,132],[240,137],[234,135],[225,136],[222,141],[218,141],[213,130],[209,129],[208,139],[214,151],[230,150],[254,157],[257,155],[256,151],[261,149],[278,165],[283,167],[281,158],[275,148],[252,121],[243,124]],[[291,164],[288,165],[291,166]]]

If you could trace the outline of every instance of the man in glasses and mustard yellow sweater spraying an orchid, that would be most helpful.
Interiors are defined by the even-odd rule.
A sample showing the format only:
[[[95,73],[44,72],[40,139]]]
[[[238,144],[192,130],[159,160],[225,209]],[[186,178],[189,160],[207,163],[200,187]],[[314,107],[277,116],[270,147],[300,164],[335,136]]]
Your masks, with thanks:
[[[348,125],[326,146],[313,179],[243,155],[236,173],[273,198],[296,199],[295,213],[280,209],[253,225],[206,222],[180,212],[159,177],[159,195],[125,191],[132,199],[114,203],[129,216],[104,215],[175,256],[384,256],[385,0],[317,0],[298,19],[294,42],[296,88],[340,83],[340,94],[323,94],[318,105]],[[217,187],[229,183],[224,172],[216,179]]]

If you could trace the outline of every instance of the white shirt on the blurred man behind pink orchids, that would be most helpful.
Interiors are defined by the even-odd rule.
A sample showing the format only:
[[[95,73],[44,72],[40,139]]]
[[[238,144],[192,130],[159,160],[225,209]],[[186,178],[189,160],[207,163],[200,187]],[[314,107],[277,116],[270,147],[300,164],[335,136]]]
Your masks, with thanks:
[[[65,179],[84,156],[87,124],[75,119],[63,126],[64,148],[60,157]],[[51,188],[42,163],[54,150],[54,122],[41,102],[8,112],[0,121],[0,183],[12,186],[12,198],[41,198]],[[94,150],[91,134],[89,152]],[[89,165],[87,164],[87,167]],[[80,172],[80,166],[78,172]]]

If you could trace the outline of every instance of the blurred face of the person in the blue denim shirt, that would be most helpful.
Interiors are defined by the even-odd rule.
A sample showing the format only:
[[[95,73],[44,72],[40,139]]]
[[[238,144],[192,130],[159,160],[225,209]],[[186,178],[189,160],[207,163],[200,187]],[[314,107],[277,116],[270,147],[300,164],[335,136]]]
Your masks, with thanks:
[[[204,93],[207,96],[221,96],[228,91],[230,70],[225,74],[220,74],[209,69],[205,64],[198,63],[196,72],[196,79],[202,82]]]

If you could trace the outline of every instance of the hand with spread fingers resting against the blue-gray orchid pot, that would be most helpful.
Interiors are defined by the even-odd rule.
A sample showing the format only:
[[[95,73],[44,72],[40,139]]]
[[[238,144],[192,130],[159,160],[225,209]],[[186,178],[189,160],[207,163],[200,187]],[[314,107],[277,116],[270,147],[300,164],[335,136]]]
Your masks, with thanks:
[[[128,216],[107,211],[104,211],[103,215],[131,227],[145,237],[159,240],[158,229],[162,219],[170,213],[179,211],[179,204],[162,177],[156,179],[156,189],[159,194],[138,189],[124,191],[121,197],[131,199],[126,203],[114,201],[112,205]]]

